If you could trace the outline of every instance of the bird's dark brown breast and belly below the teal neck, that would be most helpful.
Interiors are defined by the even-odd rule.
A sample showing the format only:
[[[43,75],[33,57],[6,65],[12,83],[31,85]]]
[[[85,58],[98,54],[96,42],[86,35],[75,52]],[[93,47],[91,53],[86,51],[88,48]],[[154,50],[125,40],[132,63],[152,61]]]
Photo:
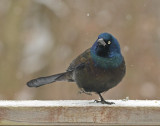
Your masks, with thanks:
[[[103,68],[90,60],[82,69],[74,71],[77,85],[87,92],[104,92],[116,86],[125,75],[124,60],[118,67]]]

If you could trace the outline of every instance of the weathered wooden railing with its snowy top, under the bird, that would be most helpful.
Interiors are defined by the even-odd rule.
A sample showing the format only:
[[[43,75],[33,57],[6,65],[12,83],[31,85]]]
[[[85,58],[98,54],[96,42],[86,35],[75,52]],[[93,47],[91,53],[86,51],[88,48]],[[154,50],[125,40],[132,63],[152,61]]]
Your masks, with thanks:
[[[160,125],[160,101],[0,101],[1,125]]]

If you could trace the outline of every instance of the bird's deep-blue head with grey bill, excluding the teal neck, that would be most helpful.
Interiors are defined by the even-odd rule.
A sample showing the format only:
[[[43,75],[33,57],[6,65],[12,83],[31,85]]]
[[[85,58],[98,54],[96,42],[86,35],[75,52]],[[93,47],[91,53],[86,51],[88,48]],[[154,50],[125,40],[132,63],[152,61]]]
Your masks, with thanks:
[[[120,45],[115,37],[109,33],[102,33],[92,46],[92,50],[101,57],[113,57],[121,54]]]

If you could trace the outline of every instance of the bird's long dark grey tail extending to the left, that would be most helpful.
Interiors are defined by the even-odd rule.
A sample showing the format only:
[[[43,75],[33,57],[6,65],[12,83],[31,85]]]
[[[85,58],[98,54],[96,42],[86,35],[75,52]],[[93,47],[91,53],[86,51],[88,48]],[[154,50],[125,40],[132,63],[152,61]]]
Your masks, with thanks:
[[[55,81],[66,81],[71,80],[71,72],[64,72],[60,74],[55,74],[47,77],[40,77],[37,79],[30,80],[27,82],[28,87],[40,87],[42,85],[50,84]]]

